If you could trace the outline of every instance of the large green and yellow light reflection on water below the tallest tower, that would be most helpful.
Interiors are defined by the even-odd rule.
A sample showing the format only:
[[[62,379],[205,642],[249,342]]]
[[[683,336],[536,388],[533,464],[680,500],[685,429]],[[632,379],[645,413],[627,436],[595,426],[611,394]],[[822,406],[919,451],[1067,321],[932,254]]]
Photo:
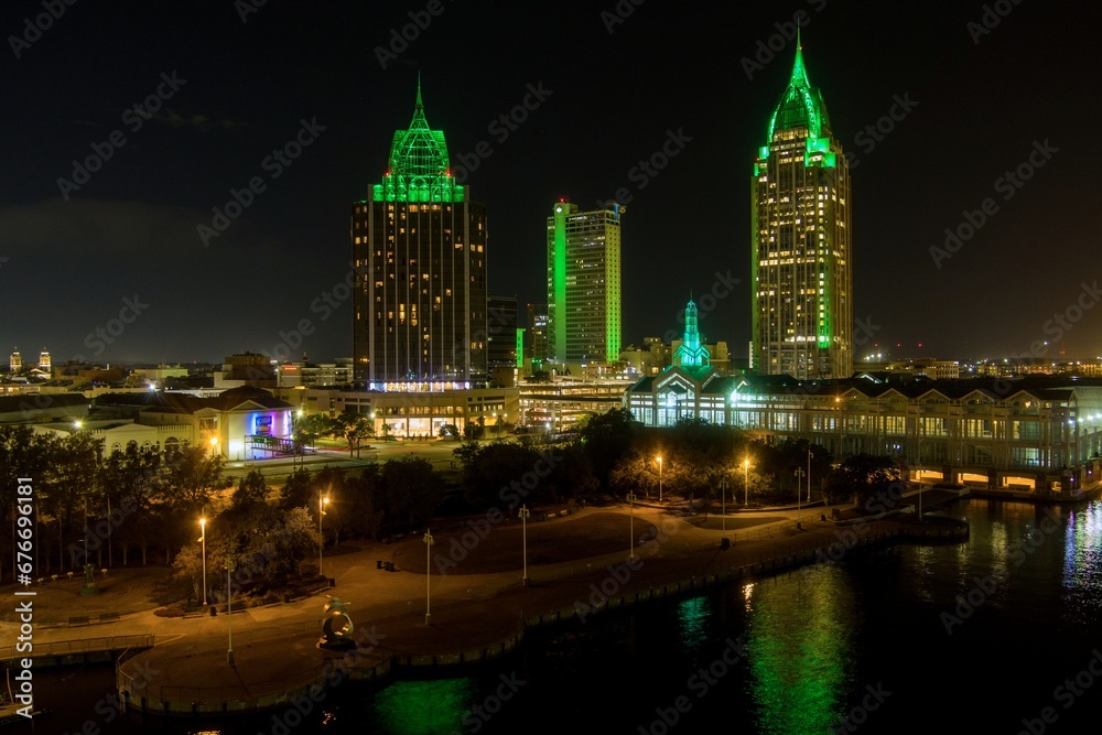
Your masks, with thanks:
[[[853,592],[835,566],[755,585],[747,657],[758,731],[835,732],[853,688]]]

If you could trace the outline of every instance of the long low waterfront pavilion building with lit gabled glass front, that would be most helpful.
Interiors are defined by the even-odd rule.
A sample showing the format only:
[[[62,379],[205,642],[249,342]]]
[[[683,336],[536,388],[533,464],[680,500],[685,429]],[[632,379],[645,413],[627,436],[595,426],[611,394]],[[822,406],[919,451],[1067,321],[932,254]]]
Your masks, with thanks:
[[[698,375],[645,378],[624,407],[649,426],[700,418],[770,444],[804,439],[843,461],[887,455],[911,478],[1077,496],[1102,473],[1102,380],[974,378],[801,381]]]

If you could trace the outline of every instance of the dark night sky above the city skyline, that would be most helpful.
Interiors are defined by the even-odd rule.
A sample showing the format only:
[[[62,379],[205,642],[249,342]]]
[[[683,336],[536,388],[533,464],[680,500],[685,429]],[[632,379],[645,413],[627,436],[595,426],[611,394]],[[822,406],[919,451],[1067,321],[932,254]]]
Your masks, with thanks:
[[[690,292],[702,303],[738,279],[701,329],[745,357],[753,161],[796,50],[778,26],[802,11],[811,83],[856,160],[856,356],[1036,355],[1046,339],[1047,356],[1102,355],[1092,4],[1002,0],[987,29],[979,2],[720,14],[636,1],[7,0],[0,352],[190,363],[288,344],[350,357],[350,299],[337,299],[350,206],[387,170],[420,73],[453,170],[478,162],[465,183],[487,207],[491,293],[545,301],[552,203],[624,190],[624,343],[678,334]],[[51,4],[60,18],[43,15]],[[28,30],[36,17],[46,30]],[[391,53],[407,25],[413,40]],[[761,52],[770,41],[778,51]],[[526,99],[527,119],[501,123]],[[878,120],[890,131],[874,137]],[[298,158],[269,158],[296,137]],[[491,152],[477,156],[482,141]],[[636,169],[663,144],[677,152],[663,169]],[[106,160],[74,173],[89,156]],[[1029,179],[1015,186],[1005,174],[1019,165]],[[253,179],[262,191],[205,244],[198,227]],[[931,255],[964,210],[986,221]],[[292,344],[300,323],[312,334]]]

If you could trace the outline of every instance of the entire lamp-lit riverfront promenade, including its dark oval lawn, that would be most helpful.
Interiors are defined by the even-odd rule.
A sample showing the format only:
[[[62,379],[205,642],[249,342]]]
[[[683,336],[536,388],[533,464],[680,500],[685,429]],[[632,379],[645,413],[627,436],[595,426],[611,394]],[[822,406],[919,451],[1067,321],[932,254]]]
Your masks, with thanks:
[[[927,490],[923,505],[929,509],[952,499],[955,494]],[[912,500],[905,498],[907,504]],[[120,684],[133,709],[194,714],[285,707],[311,693],[316,696],[337,680],[385,679],[414,667],[443,673],[451,664],[494,658],[519,642],[526,625],[584,625],[605,606],[683,594],[705,584],[759,579],[813,562],[817,550],[830,550],[839,558],[873,540],[894,542],[900,540],[897,534],[907,538],[916,530],[937,538],[948,528],[934,520],[920,526],[906,522],[906,517],[853,523],[852,518],[845,520],[849,512],[839,510],[842,522],[820,520],[831,512],[821,506],[803,507],[799,514],[795,508],[769,509],[725,519],[680,517],[668,508],[641,505],[636,505],[633,519],[624,505],[590,507],[529,522],[527,529],[512,521],[477,542],[468,536],[469,556],[462,555],[462,544],[450,542],[462,538],[464,528],[442,529],[433,531],[431,551],[454,565],[435,561],[431,577],[424,573],[422,533],[389,544],[357,542],[358,551],[325,558],[325,574],[335,580],[335,586],[309,597],[249,607],[231,616],[170,618],[150,609],[123,614],[117,621],[44,627],[35,630],[34,645],[37,650],[76,650],[80,646],[72,641],[78,639],[151,635],[156,645],[137,655],[128,651],[120,667]],[[802,519],[799,527],[798,517]],[[579,532],[587,539],[577,538]],[[529,543],[528,586],[521,581],[521,533],[527,533]],[[634,561],[628,559],[633,536],[637,541]],[[623,542],[619,549],[608,547],[608,539],[615,537]],[[723,538],[731,541],[726,549]],[[543,551],[534,554],[533,547]],[[511,569],[501,564],[506,551],[514,559]],[[533,564],[534,555],[545,563]],[[395,563],[398,571],[378,569],[380,561]],[[440,574],[441,569],[447,573]],[[43,616],[60,599],[51,596],[50,584],[40,587],[35,603]],[[316,647],[329,595],[348,605],[357,641],[354,650]],[[116,604],[108,594],[83,602],[101,604],[104,612]],[[15,629],[10,619],[0,623],[4,640],[12,640]],[[233,666],[228,662],[230,637]]]

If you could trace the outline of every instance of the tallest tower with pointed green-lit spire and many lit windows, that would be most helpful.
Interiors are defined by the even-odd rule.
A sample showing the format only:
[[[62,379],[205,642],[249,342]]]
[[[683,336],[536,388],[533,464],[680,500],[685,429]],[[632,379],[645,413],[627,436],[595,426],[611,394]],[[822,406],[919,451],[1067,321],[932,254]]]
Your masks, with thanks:
[[[850,170],[799,42],[750,190],[750,367],[800,379],[850,377]]]

